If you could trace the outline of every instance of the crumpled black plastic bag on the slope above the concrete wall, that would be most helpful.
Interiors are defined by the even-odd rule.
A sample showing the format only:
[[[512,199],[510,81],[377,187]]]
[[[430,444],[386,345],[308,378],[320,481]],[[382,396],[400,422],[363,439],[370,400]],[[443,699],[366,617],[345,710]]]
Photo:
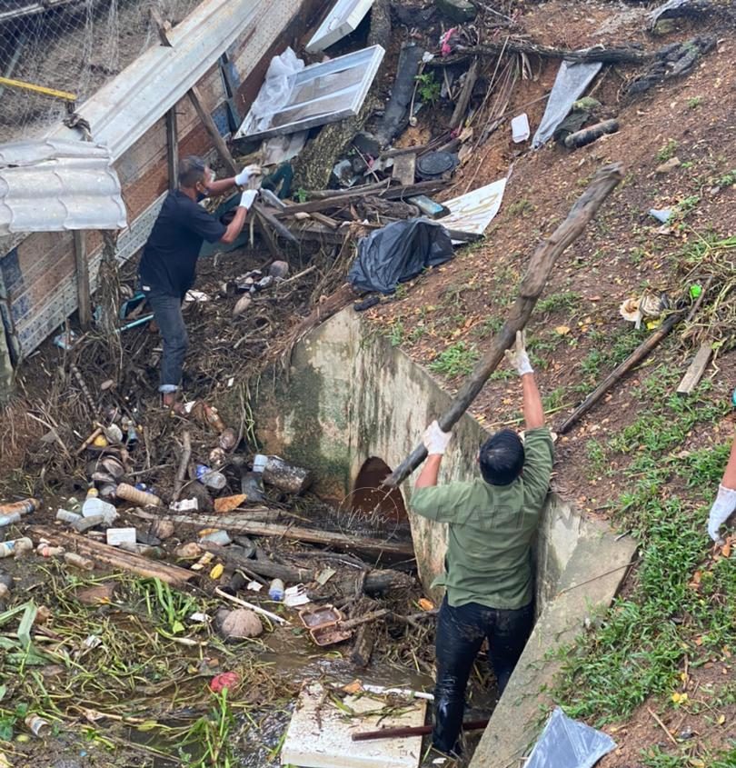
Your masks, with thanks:
[[[442,224],[429,219],[393,222],[361,238],[348,280],[360,291],[392,294],[396,285],[425,267],[452,258],[453,243]]]

